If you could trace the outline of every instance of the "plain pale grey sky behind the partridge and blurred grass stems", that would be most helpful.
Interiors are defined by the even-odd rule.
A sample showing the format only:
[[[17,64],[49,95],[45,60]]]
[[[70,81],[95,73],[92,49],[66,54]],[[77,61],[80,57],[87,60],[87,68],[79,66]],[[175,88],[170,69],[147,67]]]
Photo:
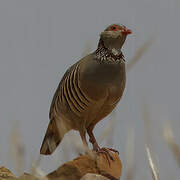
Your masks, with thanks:
[[[107,25],[120,23],[133,31],[123,48],[127,62],[155,36],[148,52],[127,74],[126,90],[116,108],[113,144],[120,152],[123,176],[127,137],[133,128],[134,179],[151,180],[145,152],[146,105],[160,178],[179,180],[179,167],[162,137],[163,124],[169,121],[180,144],[179,18],[178,0],[1,0],[0,166],[17,173],[9,142],[13,124],[18,123],[25,146],[25,171],[30,172],[49,123],[52,97],[65,70],[82,57],[87,46],[96,49],[99,34]],[[96,137],[109,121],[110,117],[96,126]],[[106,142],[100,145],[108,145]],[[73,145],[64,144],[65,151],[73,155],[64,154],[60,145],[52,156],[42,157],[41,168],[46,173],[77,156]]]

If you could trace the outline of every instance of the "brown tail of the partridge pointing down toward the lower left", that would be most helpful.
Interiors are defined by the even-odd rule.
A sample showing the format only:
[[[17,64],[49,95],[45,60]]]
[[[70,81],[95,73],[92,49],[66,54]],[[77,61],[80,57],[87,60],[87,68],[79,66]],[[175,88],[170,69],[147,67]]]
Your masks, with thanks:
[[[60,128],[60,124],[57,124],[55,119],[52,119],[46,130],[46,134],[41,145],[40,154],[50,155],[52,154],[67,131],[64,128]]]

